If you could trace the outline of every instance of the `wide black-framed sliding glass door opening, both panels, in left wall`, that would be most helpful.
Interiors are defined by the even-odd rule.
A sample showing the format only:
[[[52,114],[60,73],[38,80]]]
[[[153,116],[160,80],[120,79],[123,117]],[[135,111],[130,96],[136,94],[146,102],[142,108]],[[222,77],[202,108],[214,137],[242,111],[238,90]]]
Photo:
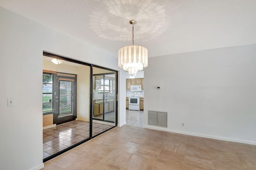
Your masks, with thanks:
[[[53,63],[54,59],[58,64]],[[107,81],[103,83],[101,93],[104,94],[103,110],[106,114],[104,119],[98,120],[93,120],[93,68],[103,74],[112,74],[108,91],[110,85]],[[116,75],[117,71],[111,69],[43,52],[43,162],[117,126],[116,95],[114,100],[107,98],[116,93]],[[106,116],[107,109],[113,112],[114,119]]]

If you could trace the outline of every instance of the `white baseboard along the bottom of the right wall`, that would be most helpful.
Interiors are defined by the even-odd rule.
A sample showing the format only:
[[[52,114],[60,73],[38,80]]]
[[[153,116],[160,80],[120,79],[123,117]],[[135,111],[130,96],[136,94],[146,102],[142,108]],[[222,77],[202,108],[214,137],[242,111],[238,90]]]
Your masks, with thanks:
[[[148,126],[148,125],[144,125],[143,127],[144,128],[149,128],[149,129],[154,129],[154,130],[162,130],[162,131],[166,131],[166,132],[173,132],[173,133],[179,133],[179,134],[187,134],[187,135],[191,135],[191,136],[198,136],[198,137],[203,137],[203,138],[211,138],[211,139],[218,139],[218,140],[226,140],[226,141],[230,141],[230,142],[238,142],[238,143],[246,143],[246,144],[256,145],[256,142],[248,141],[248,140],[223,138],[223,137],[220,137],[220,136],[211,136],[211,135],[205,135],[205,134],[190,133],[190,132],[184,132],[184,131],[179,131],[179,130],[172,130],[172,129],[168,129],[168,128]]]

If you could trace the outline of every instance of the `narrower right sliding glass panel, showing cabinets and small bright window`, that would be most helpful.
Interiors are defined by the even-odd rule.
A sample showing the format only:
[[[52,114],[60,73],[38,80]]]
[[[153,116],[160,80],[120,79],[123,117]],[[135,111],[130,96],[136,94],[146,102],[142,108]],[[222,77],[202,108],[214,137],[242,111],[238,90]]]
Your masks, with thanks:
[[[93,67],[92,136],[116,125],[116,72]]]

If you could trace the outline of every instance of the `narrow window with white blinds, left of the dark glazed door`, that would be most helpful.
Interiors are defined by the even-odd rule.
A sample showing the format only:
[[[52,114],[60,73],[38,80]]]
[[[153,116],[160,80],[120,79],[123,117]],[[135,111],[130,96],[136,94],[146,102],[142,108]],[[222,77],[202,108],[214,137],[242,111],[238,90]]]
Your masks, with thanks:
[[[52,74],[43,73],[43,112],[52,111]]]

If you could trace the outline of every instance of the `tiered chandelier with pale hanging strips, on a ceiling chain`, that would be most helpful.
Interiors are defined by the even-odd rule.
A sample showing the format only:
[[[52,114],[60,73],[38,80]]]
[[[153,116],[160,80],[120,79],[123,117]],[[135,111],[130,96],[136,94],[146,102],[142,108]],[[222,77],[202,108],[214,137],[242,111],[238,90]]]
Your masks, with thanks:
[[[122,47],[118,50],[118,67],[134,75],[137,71],[148,66],[148,49],[140,45],[134,45],[134,25],[136,20],[130,20],[132,24],[132,45]]]

